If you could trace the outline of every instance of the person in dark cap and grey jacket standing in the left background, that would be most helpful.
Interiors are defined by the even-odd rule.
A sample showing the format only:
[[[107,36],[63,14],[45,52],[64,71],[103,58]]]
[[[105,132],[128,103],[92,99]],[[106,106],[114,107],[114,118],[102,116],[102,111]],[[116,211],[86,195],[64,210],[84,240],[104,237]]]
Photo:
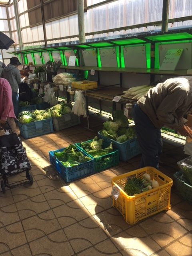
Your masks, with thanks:
[[[10,64],[8,64],[2,71],[2,77],[8,80],[12,88],[12,101],[14,106],[14,113],[18,117],[18,106],[19,106],[19,84],[23,83],[25,80],[21,78],[18,66],[21,62],[17,57],[10,58]]]

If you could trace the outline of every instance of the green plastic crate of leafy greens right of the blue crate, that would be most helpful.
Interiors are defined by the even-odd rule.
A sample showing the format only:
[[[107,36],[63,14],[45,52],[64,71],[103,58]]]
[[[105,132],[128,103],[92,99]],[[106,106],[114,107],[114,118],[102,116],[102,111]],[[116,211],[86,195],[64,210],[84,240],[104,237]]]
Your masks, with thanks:
[[[87,142],[92,142],[92,140],[87,140]],[[88,154],[82,147],[81,143],[76,143],[76,146],[82,151]],[[103,142],[102,148],[108,148],[109,144],[107,142]],[[119,163],[119,150],[114,150],[109,154],[105,154],[103,156],[94,158],[90,154],[88,154],[91,158],[94,159],[94,172],[101,172],[105,169],[108,169],[112,166],[116,166]]]

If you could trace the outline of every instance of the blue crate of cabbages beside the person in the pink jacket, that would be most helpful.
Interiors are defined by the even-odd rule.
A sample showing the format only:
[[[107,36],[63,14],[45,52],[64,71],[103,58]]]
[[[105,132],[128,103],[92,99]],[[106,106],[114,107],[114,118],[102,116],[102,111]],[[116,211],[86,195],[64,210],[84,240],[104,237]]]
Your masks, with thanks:
[[[43,134],[53,132],[52,118],[22,124],[19,122],[20,134],[25,138],[33,138]]]

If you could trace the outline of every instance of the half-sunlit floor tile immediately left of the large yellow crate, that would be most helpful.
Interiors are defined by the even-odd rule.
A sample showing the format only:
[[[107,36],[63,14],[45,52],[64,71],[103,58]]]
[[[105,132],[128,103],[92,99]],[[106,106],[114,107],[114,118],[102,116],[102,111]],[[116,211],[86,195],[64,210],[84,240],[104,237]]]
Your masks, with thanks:
[[[81,197],[80,200],[91,215],[97,214],[112,206],[111,198],[103,190]]]

